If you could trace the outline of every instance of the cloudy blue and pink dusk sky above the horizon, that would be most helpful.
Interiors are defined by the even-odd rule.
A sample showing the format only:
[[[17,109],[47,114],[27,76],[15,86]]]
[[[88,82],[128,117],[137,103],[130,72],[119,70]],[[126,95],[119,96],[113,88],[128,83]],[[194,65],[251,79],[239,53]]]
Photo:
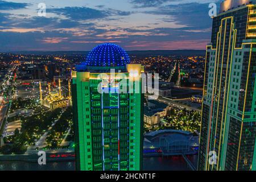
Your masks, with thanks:
[[[0,0],[0,52],[89,51],[105,42],[127,51],[205,49],[212,2],[220,1]]]

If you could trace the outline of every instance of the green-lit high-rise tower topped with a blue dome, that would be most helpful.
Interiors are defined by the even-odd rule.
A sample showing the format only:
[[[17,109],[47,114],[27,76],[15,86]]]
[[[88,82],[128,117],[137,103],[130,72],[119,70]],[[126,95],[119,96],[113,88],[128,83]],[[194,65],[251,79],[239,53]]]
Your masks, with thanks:
[[[72,72],[76,169],[142,169],[143,94],[139,64],[111,43],[95,47]]]

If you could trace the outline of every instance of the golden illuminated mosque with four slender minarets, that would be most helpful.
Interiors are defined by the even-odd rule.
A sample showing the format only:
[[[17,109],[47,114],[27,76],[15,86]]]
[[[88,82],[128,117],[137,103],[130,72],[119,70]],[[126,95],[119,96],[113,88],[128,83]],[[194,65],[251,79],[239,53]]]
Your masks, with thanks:
[[[68,107],[72,105],[72,98],[71,98],[71,84],[68,81],[68,97],[64,97],[61,94],[61,84],[59,79],[59,92],[52,92],[51,85],[48,84],[48,95],[43,98],[42,93],[42,85],[39,82],[39,89],[40,89],[40,104],[48,109],[57,109],[61,107]]]

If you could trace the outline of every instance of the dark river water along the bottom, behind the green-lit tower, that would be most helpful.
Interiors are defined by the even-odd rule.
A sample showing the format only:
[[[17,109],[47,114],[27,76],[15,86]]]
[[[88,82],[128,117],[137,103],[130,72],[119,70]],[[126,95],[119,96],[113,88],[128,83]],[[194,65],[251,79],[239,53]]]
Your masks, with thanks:
[[[197,156],[188,156],[189,160],[197,166]],[[51,162],[45,166],[39,166],[38,163],[28,162],[2,162],[0,161],[0,171],[73,171],[75,162]],[[146,157],[143,158],[144,171],[190,171],[187,163],[182,156],[169,157]]]

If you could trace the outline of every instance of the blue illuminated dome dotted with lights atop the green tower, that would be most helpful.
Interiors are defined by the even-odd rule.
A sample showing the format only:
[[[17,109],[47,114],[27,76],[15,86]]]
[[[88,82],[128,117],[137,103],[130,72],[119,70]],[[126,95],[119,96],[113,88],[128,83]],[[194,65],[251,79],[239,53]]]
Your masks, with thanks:
[[[90,67],[123,67],[129,63],[130,57],[126,51],[112,43],[94,47],[85,61],[85,65]]]

